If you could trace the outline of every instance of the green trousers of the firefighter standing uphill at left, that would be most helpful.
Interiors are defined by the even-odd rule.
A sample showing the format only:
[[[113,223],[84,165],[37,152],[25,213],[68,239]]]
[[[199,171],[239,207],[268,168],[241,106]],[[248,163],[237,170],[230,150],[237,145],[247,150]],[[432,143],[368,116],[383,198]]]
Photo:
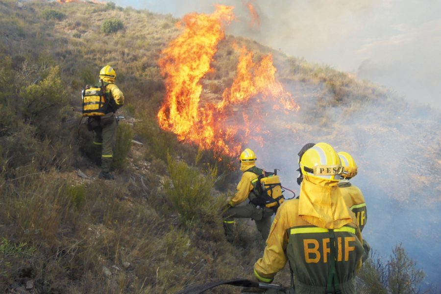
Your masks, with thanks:
[[[116,141],[118,122],[115,119],[105,127],[94,129],[94,148],[96,156],[101,157],[101,170],[110,172],[113,160],[113,147]]]

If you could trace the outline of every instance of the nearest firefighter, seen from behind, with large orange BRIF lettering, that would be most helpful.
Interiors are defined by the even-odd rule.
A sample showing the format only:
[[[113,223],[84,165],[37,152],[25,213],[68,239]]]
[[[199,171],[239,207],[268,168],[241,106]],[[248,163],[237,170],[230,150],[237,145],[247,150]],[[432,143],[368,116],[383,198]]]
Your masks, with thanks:
[[[277,210],[254,274],[271,282],[289,261],[296,294],[355,293],[363,239],[338,188],[343,170],[339,155],[329,144],[318,143],[299,164],[300,196]]]

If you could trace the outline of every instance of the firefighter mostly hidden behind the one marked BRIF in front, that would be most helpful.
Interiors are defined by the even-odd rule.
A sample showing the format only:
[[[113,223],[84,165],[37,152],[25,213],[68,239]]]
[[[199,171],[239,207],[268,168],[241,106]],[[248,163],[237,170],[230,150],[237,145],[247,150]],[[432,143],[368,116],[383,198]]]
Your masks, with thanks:
[[[343,173],[341,176],[343,180],[339,182],[339,188],[341,189],[342,196],[346,205],[355,214],[360,227],[360,231],[368,222],[368,209],[366,207],[365,197],[361,190],[352,185],[349,180],[357,175],[358,167],[355,163],[354,158],[347,152],[339,152],[340,161],[343,165]],[[363,254],[363,262],[368,258],[370,246],[366,240],[363,240],[363,247],[365,248],[365,253]]]

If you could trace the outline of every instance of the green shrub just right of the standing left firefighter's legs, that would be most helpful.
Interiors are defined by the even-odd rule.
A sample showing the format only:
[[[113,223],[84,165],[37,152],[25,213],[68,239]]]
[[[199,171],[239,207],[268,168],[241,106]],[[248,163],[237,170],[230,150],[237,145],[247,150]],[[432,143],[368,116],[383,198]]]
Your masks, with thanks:
[[[132,147],[133,131],[129,124],[120,123],[114,147],[112,166],[115,170],[123,171],[127,163],[127,155]]]

